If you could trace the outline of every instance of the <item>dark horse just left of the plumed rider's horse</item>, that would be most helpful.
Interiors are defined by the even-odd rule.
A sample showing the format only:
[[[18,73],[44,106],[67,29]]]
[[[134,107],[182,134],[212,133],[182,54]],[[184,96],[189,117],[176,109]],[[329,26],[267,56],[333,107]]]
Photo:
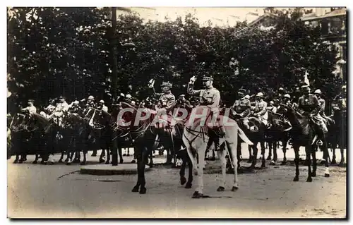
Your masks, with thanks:
[[[273,151],[273,161],[271,161],[270,165],[274,165],[275,162],[277,162],[277,142],[282,142],[284,157],[281,164],[284,165],[287,162],[286,152],[289,139],[288,130],[291,129],[291,127],[287,123],[285,116],[274,113],[273,111],[268,111],[268,122],[271,126],[265,130],[265,140],[268,142],[269,148],[267,159],[271,159]]]

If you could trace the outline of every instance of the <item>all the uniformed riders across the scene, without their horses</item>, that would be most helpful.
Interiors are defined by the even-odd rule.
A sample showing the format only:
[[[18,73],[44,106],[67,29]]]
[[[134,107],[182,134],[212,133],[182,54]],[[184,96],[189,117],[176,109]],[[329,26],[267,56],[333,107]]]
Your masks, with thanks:
[[[124,93],[121,93],[117,99],[113,100],[112,104],[109,105],[109,108],[105,105],[104,99],[97,100],[93,96],[89,96],[87,99],[81,99],[80,101],[76,99],[70,103],[66,102],[65,97],[61,96],[58,99],[49,99],[49,105],[47,107],[43,107],[40,111],[37,109],[37,107],[35,107],[35,101],[33,99],[29,99],[28,106],[20,109],[20,113],[16,114],[15,116],[8,114],[8,121],[11,121],[11,124],[8,124],[8,134],[10,134],[10,126],[13,125],[14,117],[27,117],[28,120],[22,120],[28,121],[26,128],[31,127],[31,118],[33,114],[40,114],[40,116],[46,118],[49,123],[55,123],[59,127],[64,127],[66,118],[70,117],[68,115],[79,115],[81,118],[86,118],[85,123],[92,123],[88,117],[88,113],[92,111],[92,109],[93,111],[100,113],[102,113],[102,111],[112,113],[112,110],[114,109],[121,109],[121,102],[124,102],[131,107],[155,110],[157,115],[169,114],[172,116],[173,109],[184,108],[188,111],[191,111],[198,105],[205,105],[210,107],[212,113],[215,115],[224,113],[226,107],[221,105],[222,101],[220,92],[215,87],[213,87],[213,78],[207,76],[203,77],[203,85],[205,86],[205,90],[197,91],[193,90],[193,83],[195,80],[196,78],[191,78],[191,81],[188,85],[186,95],[189,97],[189,100],[186,98],[186,95],[179,95],[178,98],[174,97],[172,94],[172,84],[169,82],[162,83],[162,93],[155,92],[154,81],[152,80],[149,84],[149,87],[153,90],[154,95],[151,97],[147,97],[146,99],[136,99],[130,94],[124,95]],[[333,99],[334,111],[346,110],[347,107],[345,92],[346,90],[344,86],[342,87],[342,93]],[[231,115],[229,116],[238,121],[241,128],[249,131],[250,136],[251,133],[256,133],[259,128],[259,126],[256,126],[256,123],[254,123],[251,118],[257,118],[259,121],[261,121],[261,126],[263,126],[266,130],[271,130],[271,128],[273,129],[275,126],[274,118],[277,118],[277,122],[279,121],[278,124],[281,124],[282,130],[291,130],[292,124],[285,116],[287,107],[291,107],[299,114],[311,116],[313,126],[316,126],[318,134],[316,145],[320,146],[323,145],[322,139],[325,133],[328,133],[328,123],[333,121],[329,116],[325,115],[325,107],[327,106],[325,104],[325,99],[323,99],[323,93],[321,90],[317,89],[313,92],[313,94],[311,94],[311,89],[309,85],[306,84],[301,86],[301,96],[291,96],[286,93],[283,88],[280,88],[277,91],[277,94],[273,99],[266,98],[263,92],[249,95],[249,92],[244,89],[237,90],[237,93],[234,93],[234,95],[237,95],[237,99],[235,100],[234,104],[232,104]],[[92,113],[90,115],[92,116]],[[222,130],[217,130],[217,132],[222,133]],[[94,135],[90,133],[87,135],[87,138],[91,138],[93,136]],[[62,135],[56,135],[55,138],[63,137]],[[290,143],[290,138],[288,137],[288,139]],[[128,141],[133,142],[131,139]],[[212,142],[215,142],[215,150],[217,151],[217,148],[219,148],[217,138],[213,138],[212,141],[208,143],[208,147],[210,147]],[[268,143],[270,144],[270,142]],[[275,143],[277,144],[277,142]],[[163,145],[163,143],[161,143],[161,145]],[[269,147],[270,155],[272,154],[272,147],[274,148],[273,157],[275,160],[277,160],[277,153],[275,153],[275,148],[277,145],[270,145]],[[285,146],[283,149],[285,150]],[[249,152],[251,157],[253,157],[253,154],[257,154],[257,151],[251,153],[249,150]],[[78,161],[79,157],[79,155],[76,156],[75,160]],[[100,162],[103,162],[103,157],[104,155],[101,155]],[[241,151],[239,152],[239,158],[241,159]],[[270,158],[271,157],[269,156],[268,159]],[[24,156],[23,159],[20,159],[20,161],[25,159],[26,158]],[[171,159],[169,159],[169,161],[171,162]],[[251,159],[249,159],[249,162],[251,162]]]

